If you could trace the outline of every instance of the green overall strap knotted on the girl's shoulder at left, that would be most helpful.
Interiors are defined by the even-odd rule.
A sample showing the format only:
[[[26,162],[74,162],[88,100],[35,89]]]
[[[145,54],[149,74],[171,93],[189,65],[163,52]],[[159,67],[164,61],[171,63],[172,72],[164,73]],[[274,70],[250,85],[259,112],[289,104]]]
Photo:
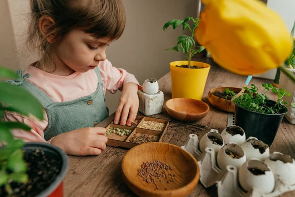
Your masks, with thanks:
[[[39,100],[39,102],[45,109],[47,108],[47,106],[54,103],[54,101],[50,97],[48,97],[43,91],[41,91],[39,88],[31,84],[30,82],[26,81],[26,79],[30,77],[29,73],[23,75],[23,71],[18,70],[17,75],[18,78],[16,78],[15,80],[6,80],[5,82],[8,82],[11,85],[15,86],[21,86],[28,90],[30,94],[32,94],[36,99]]]

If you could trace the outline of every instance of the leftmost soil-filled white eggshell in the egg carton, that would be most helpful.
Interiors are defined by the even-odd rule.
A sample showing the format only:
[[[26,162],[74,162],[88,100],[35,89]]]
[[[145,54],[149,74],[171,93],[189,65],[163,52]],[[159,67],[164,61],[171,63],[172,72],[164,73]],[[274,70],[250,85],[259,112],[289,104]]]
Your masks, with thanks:
[[[218,151],[221,149],[221,147],[224,145],[224,141],[222,136],[218,133],[217,130],[211,130],[209,132],[207,132],[205,135],[203,135],[203,137],[200,140],[200,151],[203,153],[205,151],[206,147],[212,148],[215,151],[215,154],[218,153]],[[218,139],[218,141],[220,142],[220,144],[214,144],[212,143],[208,137],[214,137],[216,139]]]

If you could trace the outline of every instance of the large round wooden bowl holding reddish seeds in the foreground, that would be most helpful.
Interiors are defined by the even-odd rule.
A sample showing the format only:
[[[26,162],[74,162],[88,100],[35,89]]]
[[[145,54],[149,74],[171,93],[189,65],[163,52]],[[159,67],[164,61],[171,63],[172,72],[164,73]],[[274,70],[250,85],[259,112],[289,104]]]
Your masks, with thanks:
[[[156,178],[155,183],[147,183],[138,175],[144,162],[159,160],[172,167],[165,174],[168,178]],[[163,171],[163,170],[161,170]],[[122,160],[122,176],[127,186],[140,197],[186,197],[196,187],[200,178],[200,168],[196,159],[182,148],[163,142],[144,143],[130,149]],[[160,181],[161,180],[161,181]],[[166,189],[166,190],[165,190]]]

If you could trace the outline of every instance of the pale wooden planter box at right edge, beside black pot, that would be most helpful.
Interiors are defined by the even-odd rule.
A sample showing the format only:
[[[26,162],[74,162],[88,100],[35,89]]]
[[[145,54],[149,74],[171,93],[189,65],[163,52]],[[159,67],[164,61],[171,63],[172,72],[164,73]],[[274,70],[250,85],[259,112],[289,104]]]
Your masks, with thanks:
[[[295,69],[288,69],[293,71],[295,74]],[[284,100],[287,101],[289,104],[295,102],[295,83],[293,83],[283,72],[281,72],[280,76],[280,88],[285,89],[287,92],[291,94],[290,97],[285,97]],[[295,124],[295,108],[289,106],[288,113],[285,115],[287,120]]]

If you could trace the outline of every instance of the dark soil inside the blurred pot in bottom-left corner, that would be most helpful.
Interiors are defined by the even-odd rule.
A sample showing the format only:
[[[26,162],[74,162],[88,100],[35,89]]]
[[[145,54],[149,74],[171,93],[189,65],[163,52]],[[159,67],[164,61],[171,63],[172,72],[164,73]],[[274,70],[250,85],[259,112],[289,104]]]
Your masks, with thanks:
[[[12,195],[8,195],[2,186],[0,197],[35,197],[56,179],[61,170],[61,161],[58,157],[52,154],[45,155],[43,150],[25,152],[24,159],[28,164],[28,183],[11,182]]]

